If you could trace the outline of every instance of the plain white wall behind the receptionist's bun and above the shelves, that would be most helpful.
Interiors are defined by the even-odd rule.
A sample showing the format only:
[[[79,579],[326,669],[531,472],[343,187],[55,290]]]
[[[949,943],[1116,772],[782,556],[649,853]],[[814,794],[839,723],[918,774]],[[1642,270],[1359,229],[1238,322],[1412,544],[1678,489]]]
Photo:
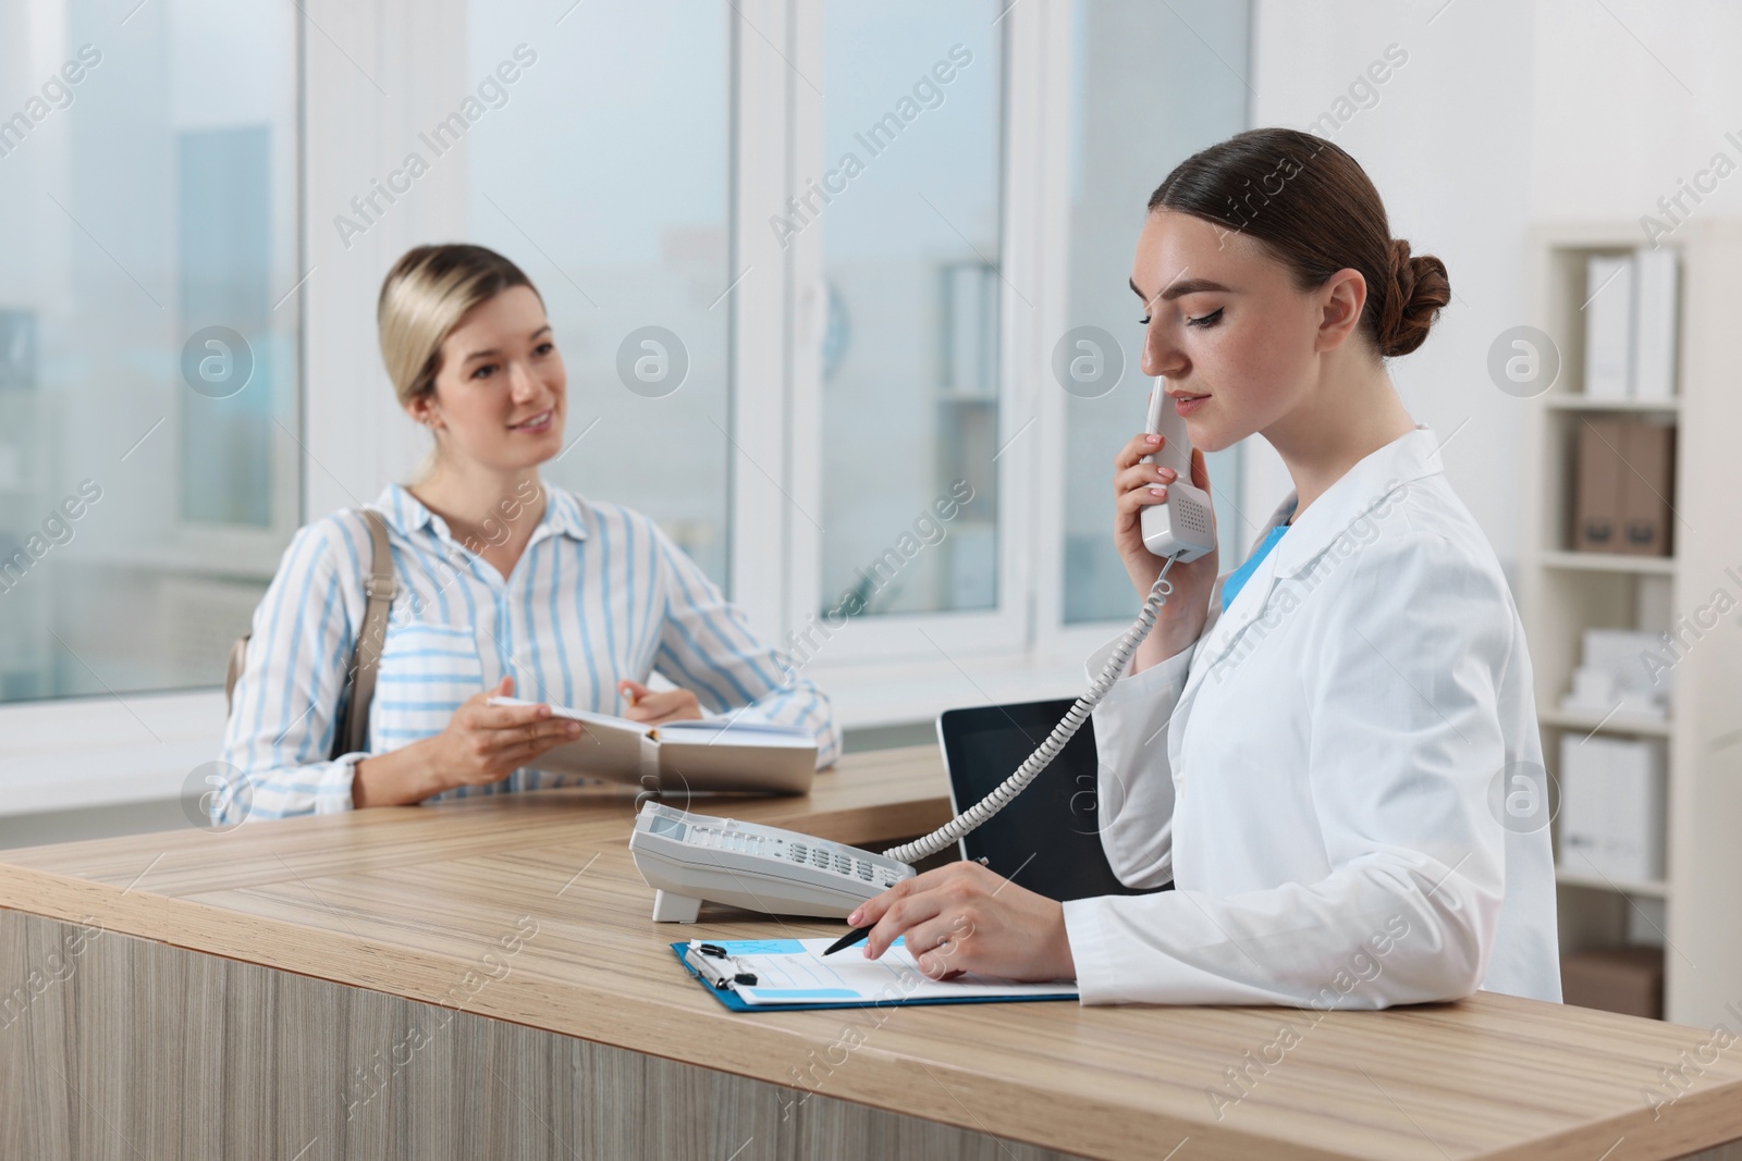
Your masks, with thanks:
[[[1444,439],[1453,486],[1502,562],[1517,559],[1517,400],[1486,372],[1488,346],[1524,322],[1524,230],[1536,219],[1637,221],[1718,150],[1742,162],[1742,7],[1721,0],[1258,0],[1252,124],[1308,127],[1397,44],[1408,63],[1333,139],[1369,172],[1392,235],[1444,259],[1453,305],[1392,378]],[[1726,118],[1728,115],[1728,118]],[[1693,205],[1688,202],[1688,205]],[[1698,216],[1733,216],[1742,178]],[[1646,240],[1641,230],[1641,244]],[[1256,442],[1256,440],[1254,440]],[[1265,510],[1287,477],[1249,456]]]

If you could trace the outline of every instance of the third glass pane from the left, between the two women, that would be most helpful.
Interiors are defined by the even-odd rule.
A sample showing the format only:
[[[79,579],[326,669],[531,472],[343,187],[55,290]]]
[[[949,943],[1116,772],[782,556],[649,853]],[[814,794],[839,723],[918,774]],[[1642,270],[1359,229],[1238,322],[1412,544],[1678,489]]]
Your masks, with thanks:
[[[787,228],[822,232],[827,282],[826,609],[1000,604],[996,17],[989,2],[822,5],[822,169]]]

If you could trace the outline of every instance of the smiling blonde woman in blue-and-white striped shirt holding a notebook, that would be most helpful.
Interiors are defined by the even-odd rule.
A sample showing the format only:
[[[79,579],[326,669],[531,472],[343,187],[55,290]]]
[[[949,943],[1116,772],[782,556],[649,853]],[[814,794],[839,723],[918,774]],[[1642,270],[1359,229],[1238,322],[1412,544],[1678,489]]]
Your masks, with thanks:
[[[817,764],[834,762],[827,698],[665,533],[538,479],[563,449],[568,379],[514,263],[418,247],[387,275],[378,325],[399,402],[436,446],[416,484],[369,505],[397,592],[368,750],[331,757],[369,571],[368,524],[347,510],[296,534],[254,613],[223,748],[249,818],[561,785],[537,761],[578,726],[552,703],[645,722],[737,710],[810,729]],[[678,688],[650,689],[653,670]],[[514,693],[538,705],[488,705]]]

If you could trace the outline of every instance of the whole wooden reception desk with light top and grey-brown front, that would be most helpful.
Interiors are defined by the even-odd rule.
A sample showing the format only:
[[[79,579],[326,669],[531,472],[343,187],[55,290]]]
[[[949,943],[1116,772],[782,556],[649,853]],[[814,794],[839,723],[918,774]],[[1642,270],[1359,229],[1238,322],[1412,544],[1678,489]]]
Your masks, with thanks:
[[[1505,996],[733,1015],[669,942],[841,924],[652,923],[632,806],[0,851],[0,1156],[1631,1161],[1742,1138],[1742,1043]],[[915,748],[695,808],[874,846],[948,801]]]

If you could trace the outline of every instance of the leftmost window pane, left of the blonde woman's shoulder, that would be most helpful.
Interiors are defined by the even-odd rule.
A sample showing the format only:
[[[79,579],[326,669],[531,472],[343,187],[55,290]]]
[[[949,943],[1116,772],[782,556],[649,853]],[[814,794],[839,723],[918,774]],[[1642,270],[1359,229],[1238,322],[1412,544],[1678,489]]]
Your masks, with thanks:
[[[298,524],[289,9],[0,9],[0,701],[214,686]]]

